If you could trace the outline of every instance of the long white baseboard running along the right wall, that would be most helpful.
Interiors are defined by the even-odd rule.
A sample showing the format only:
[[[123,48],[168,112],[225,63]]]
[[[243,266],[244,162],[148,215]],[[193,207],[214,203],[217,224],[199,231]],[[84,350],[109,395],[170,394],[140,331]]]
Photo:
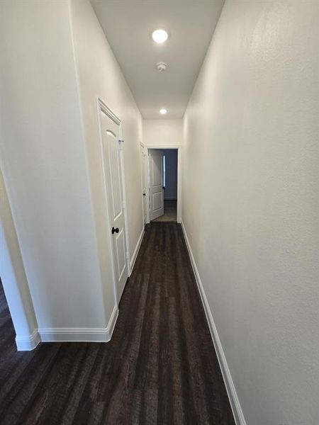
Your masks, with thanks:
[[[230,370],[228,368],[228,364],[225,358],[225,353],[223,351],[223,347],[220,343],[220,338],[218,336],[218,331],[216,329],[216,324],[213,319],[213,314],[211,313],[211,307],[208,305],[208,300],[205,294],[205,290],[203,288],[203,284],[201,283],[201,278],[198,273],[198,268],[195,263],[194,255],[191,251],[191,245],[189,244],[189,238],[187,237],[186,229],[184,227],[184,223],[181,220],[181,228],[183,229],[187,250],[189,251],[189,256],[191,259],[191,266],[193,267],[194,275],[196,278],[196,283],[198,286],[199,293],[201,295],[201,301],[203,302],[203,307],[206,313],[206,319],[211,330],[211,337],[213,339],[213,344],[215,346],[215,350],[218,357],[218,363],[220,365],[220,370],[223,375],[223,380],[225,382],[225,387],[228,393],[228,398],[230,401],[230,406],[233,410],[233,415],[235,418],[236,425],[247,425],[245,421],[244,414],[242,413],[242,408],[240,406],[240,401],[237,397],[237,392],[235,389],[235,385],[233,379],[230,375]]]

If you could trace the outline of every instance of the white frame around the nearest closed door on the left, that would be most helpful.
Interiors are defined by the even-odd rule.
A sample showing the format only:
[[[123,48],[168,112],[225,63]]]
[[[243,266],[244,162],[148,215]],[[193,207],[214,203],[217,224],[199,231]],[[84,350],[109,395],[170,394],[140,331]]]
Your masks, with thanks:
[[[110,228],[110,223],[111,223],[111,217],[110,217],[110,213],[108,211],[108,205],[110,205],[109,203],[109,199],[108,199],[108,190],[107,190],[107,185],[108,183],[110,183],[109,181],[106,181],[106,176],[108,176],[108,173],[105,172],[105,168],[104,168],[104,161],[103,161],[103,135],[102,135],[102,123],[101,123],[101,113],[105,113],[108,118],[110,118],[111,120],[113,120],[114,123],[116,123],[118,125],[118,137],[119,137],[119,142],[121,140],[121,146],[119,149],[120,152],[120,161],[121,161],[121,181],[122,181],[122,193],[123,193],[123,213],[124,213],[124,238],[125,238],[125,263],[126,263],[126,268],[128,271],[128,276],[130,276],[130,244],[129,244],[129,240],[128,240],[128,212],[127,212],[127,208],[126,208],[126,191],[125,191],[125,169],[124,169],[124,157],[123,157],[123,136],[122,136],[122,123],[120,118],[118,118],[118,116],[113,113],[113,111],[108,108],[108,106],[106,106],[106,104],[101,100],[101,98],[97,97],[96,98],[96,108],[97,108],[97,119],[98,119],[98,126],[99,126],[99,157],[100,157],[100,162],[101,162],[101,171],[102,171],[102,175],[103,175],[103,193],[104,193],[104,203],[105,203],[105,209],[106,209],[106,217],[108,220],[108,228]],[[116,305],[118,305],[118,303],[120,302],[120,300],[118,300],[118,293],[117,293],[117,288],[116,288],[116,268],[115,268],[115,259],[114,259],[114,252],[113,252],[113,243],[112,243],[112,237],[111,237],[111,232],[109,232],[108,235],[108,242],[109,242],[109,247],[111,249],[111,263],[112,263],[112,273],[113,273],[113,288],[114,288],[114,296],[115,296],[115,301],[116,301]]]

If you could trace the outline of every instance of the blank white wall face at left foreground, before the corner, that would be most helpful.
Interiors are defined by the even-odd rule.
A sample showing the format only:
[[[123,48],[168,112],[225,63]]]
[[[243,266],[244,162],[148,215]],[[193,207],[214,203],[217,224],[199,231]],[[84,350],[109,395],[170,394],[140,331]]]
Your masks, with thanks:
[[[68,1],[0,2],[1,168],[39,327],[105,327]]]

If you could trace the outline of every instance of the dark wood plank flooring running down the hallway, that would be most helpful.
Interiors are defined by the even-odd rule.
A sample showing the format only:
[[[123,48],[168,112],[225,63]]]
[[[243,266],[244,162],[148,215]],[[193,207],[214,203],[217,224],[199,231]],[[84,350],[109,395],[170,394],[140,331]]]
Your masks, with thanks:
[[[147,225],[107,344],[16,352],[0,302],[0,424],[235,424],[180,225]]]

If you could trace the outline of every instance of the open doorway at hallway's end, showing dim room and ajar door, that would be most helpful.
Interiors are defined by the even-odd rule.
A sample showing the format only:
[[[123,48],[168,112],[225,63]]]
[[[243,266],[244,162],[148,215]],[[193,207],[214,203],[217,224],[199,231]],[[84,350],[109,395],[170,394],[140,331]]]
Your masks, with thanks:
[[[150,221],[177,222],[178,149],[148,150]]]

